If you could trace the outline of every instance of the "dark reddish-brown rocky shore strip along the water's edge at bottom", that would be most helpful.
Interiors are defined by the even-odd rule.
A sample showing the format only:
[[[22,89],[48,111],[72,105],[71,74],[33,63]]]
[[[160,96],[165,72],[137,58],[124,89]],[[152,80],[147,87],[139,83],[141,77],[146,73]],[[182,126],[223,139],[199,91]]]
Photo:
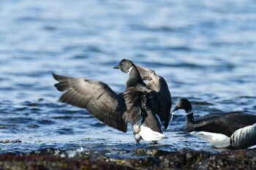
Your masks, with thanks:
[[[0,169],[256,169],[256,149],[138,149],[132,153],[86,150],[70,155],[67,150],[48,148],[25,154],[1,154]]]

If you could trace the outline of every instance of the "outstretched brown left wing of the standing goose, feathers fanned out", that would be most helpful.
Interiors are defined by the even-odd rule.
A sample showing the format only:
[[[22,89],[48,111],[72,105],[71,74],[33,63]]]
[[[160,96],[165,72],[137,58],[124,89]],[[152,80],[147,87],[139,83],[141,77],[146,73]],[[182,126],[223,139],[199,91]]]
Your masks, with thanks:
[[[55,87],[59,91],[66,91],[59,101],[75,107],[86,108],[91,115],[102,123],[127,131],[127,122],[123,119],[126,110],[124,98],[113,92],[102,82],[53,74],[59,83]]]

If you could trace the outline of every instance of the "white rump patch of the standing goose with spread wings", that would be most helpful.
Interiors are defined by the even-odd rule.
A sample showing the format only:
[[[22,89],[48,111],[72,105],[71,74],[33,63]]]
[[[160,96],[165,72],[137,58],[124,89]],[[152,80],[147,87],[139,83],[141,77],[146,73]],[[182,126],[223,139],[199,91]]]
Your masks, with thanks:
[[[140,136],[146,142],[158,142],[161,139],[167,139],[167,136],[157,131],[152,131],[151,128],[145,125],[140,125]]]

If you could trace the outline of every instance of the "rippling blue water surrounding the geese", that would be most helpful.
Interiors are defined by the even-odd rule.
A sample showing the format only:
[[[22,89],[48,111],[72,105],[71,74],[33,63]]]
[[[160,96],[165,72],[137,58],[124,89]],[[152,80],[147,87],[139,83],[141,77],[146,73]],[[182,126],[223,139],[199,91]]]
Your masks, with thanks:
[[[186,97],[197,116],[256,114],[255,1],[12,0],[0,1],[0,18],[0,139],[10,141],[0,152],[151,147],[59,103],[53,87],[56,72],[121,92],[122,58],[165,77],[173,107]],[[213,149],[184,123],[177,112],[157,147]]]

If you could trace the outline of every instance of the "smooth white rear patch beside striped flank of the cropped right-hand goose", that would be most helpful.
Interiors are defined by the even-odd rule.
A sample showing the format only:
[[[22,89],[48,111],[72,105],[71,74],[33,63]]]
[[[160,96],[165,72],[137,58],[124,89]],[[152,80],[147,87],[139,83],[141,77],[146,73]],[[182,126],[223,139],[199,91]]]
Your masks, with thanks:
[[[207,131],[192,131],[189,134],[204,139],[215,147],[230,146],[230,137],[224,134],[211,133]]]

